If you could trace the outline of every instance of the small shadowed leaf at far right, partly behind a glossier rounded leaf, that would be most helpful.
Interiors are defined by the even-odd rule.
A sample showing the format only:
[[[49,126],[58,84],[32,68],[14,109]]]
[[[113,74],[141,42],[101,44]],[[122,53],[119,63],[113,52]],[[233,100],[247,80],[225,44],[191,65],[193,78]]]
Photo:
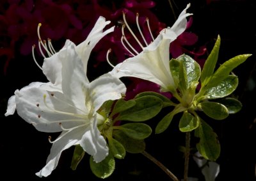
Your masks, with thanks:
[[[217,102],[226,106],[228,108],[229,114],[235,114],[239,112],[243,107],[242,103],[239,100],[231,97],[222,98],[220,100],[217,100]]]

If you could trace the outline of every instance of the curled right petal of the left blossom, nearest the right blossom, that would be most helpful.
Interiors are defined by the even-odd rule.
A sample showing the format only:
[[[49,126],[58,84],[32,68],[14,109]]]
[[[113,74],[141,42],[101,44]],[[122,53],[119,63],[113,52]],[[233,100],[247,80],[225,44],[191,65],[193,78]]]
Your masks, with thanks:
[[[89,97],[86,101],[91,101],[93,108],[97,111],[106,100],[119,99],[125,91],[126,88],[122,81],[109,74],[104,74],[90,83]],[[89,98],[90,100],[88,100]]]

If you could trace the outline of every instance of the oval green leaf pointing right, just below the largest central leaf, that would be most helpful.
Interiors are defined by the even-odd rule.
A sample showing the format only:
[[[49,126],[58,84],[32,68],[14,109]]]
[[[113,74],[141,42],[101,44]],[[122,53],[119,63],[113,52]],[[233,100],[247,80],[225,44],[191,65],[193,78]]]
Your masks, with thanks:
[[[144,123],[126,123],[119,126],[119,130],[133,139],[148,138],[152,132],[152,129]]]

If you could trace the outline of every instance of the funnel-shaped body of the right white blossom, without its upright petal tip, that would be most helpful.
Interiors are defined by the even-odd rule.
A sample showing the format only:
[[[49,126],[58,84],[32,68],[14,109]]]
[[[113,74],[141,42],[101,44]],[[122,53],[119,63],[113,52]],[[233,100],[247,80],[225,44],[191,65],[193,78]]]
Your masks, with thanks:
[[[159,41],[156,49],[153,51],[145,49],[137,56],[126,59],[123,63],[116,65],[110,74],[116,77],[129,76],[145,79],[159,84],[164,90],[174,87],[169,67],[170,40],[163,39],[163,36],[158,36],[156,40]]]

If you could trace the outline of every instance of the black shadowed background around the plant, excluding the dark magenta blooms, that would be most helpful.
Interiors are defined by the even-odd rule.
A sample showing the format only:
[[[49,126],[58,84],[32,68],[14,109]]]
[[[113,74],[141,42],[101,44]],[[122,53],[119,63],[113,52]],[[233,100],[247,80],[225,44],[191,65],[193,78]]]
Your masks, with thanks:
[[[234,70],[239,77],[239,86],[232,96],[238,98],[243,109],[228,116],[226,120],[207,120],[220,139],[221,155],[217,160],[220,174],[216,180],[255,180],[256,163],[256,1],[179,1],[175,2],[177,14],[187,3],[193,13],[190,31],[198,35],[197,45],[206,45],[208,51],[218,35],[221,36],[219,63],[239,54],[253,54],[245,63]],[[207,3],[208,2],[208,3]],[[168,1],[156,1],[152,9],[160,21],[172,26],[173,19]],[[1,4],[1,3],[0,3]],[[4,60],[4,59],[3,59]],[[0,61],[1,67],[4,61]],[[2,69],[1,69],[2,70]],[[8,74],[1,72],[1,130],[0,138],[0,179],[1,180],[101,180],[90,171],[89,156],[85,155],[76,171],[70,169],[73,148],[61,155],[57,168],[47,178],[38,178],[35,173],[42,169],[49,154],[51,144],[48,134],[38,132],[24,122],[17,113],[5,117],[8,98],[16,89],[33,81],[46,81],[42,72],[33,63],[31,56],[15,57],[8,66]],[[161,119],[159,114],[156,119]],[[154,127],[156,123],[152,123]],[[177,123],[159,135],[146,139],[147,152],[154,155],[179,179],[183,175],[184,158],[178,150],[184,145],[184,135],[177,130]],[[192,139],[193,145],[193,139]],[[195,162],[190,160],[189,177],[204,180]],[[105,180],[170,180],[165,173],[142,154],[127,153],[124,160],[116,160],[116,169]]]

